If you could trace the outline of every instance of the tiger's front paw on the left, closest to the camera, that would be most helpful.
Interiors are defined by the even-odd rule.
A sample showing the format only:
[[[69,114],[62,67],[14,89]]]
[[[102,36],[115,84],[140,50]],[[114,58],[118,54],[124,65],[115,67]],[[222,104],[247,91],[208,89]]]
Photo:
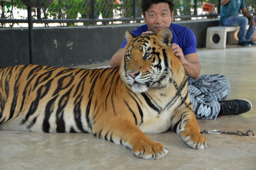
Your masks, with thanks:
[[[135,145],[132,151],[137,157],[148,160],[161,159],[168,153],[161,143],[154,142]]]

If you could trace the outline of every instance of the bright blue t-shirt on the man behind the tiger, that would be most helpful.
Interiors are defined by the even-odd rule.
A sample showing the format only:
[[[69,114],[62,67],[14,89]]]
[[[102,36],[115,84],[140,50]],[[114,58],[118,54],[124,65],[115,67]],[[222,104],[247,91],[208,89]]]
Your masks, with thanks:
[[[192,54],[197,52],[197,39],[192,30],[187,27],[171,23],[170,28],[172,29],[172,43],[176,43],[183,51],[184,55]],[[149,31],[148,25],[142,25],[136,30],[131,31],[135,36],[139,36],[143,32]],[[124,48],[126,45],[126,39],[123,41],[123,44],[120,48]]]

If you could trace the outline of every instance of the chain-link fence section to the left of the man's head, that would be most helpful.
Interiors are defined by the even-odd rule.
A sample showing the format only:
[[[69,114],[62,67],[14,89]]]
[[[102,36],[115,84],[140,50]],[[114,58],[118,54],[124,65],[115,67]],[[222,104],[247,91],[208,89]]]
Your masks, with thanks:
[[[44,19],[88,19],[88,18],[131,18],[133,17],[133,0],[55,0],[41,10]],[[1,18],[24,19],[27,17],[26,5],[21,0],[1,1]],[[141,17],[140,0],[135,0],[136,17]],[[34,9],[33,18],[37,19]]]

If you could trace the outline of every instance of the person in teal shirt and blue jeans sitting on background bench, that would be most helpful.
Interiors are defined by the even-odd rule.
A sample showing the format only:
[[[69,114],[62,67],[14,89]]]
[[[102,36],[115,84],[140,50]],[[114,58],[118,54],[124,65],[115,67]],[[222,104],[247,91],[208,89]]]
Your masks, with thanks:
[[[223,26],[240,26],[239,28],[239,40],[238,46],[249,47],[251,45],[256,45],[256,43],[251,41],[255,30],[254,16],[245,8],[244,0],[221,0],[221,12],[220,12],[220,22]],[[237,16],[239,10],[242,10],[244,16]],[[246,27],[250,24],[250,27],[246,33]]]

